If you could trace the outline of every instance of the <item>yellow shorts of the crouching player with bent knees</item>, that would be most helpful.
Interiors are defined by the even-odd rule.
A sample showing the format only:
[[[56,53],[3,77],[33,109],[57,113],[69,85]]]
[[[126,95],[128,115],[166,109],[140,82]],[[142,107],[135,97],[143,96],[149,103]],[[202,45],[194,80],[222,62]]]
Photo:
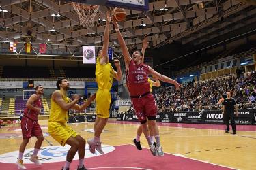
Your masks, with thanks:
[[[76,137],[78,135],[76,131],[67,126],[66,124],[61,124],[59,122],[49,122],[48,123],[48,133],[59,142],[61,146],[65,146],[68,138]]]

